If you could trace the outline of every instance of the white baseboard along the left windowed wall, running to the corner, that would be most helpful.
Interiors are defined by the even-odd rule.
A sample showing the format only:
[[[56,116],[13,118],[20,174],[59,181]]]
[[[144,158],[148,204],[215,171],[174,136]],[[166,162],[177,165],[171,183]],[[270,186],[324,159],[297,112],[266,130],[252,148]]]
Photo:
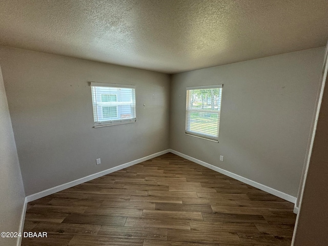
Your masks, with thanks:
[[[27,200],[27,202],[30,202],[30,201],[34,201],[36,199],[39,199],[39,198],[42,198],[42,197],[45,197],[45,196],[49,196],[53,193],[66,190],[66,189],[71,188],[73,186],[80,185],[81,183],[84,183],[84,182],[90,181],[92,179],[99,178],[101,176],[116,172],[118,170],[121,170],[121,169],[130,167],[130,166],[136,165],[137,163],[140,163],[142,161],[146,161],[146,160],[155,158],[157,156],[160,156],[160,155],[163,155],[163,154],[166,154],[166,153],[169,153],[169,152],[170,152],[169,149],[168,150],[163,150],[163,151],[157,152],[155,154],[148,155],[146,157],[142,157],[140,159],[136,159],[136,160],[124,163],[124,164],[119,165],[117,167],[110,168],[110,169],[107,169],[107,170],[104,170],[104,171],[101,171],[101,172],[98,172],[98,173],[94,173],[94,174],[91,174],[89,176],[79,178],[79,179],[73,180],[71,182],[64,183],[63,185],[59,185],[59,186],[56,186],[56,187],[53,187],[53,188],[50,188],[50,189],[47,189],[47,190],[44,190],[44,191],[40,191],[38,193],[27,196],[26,200]]]

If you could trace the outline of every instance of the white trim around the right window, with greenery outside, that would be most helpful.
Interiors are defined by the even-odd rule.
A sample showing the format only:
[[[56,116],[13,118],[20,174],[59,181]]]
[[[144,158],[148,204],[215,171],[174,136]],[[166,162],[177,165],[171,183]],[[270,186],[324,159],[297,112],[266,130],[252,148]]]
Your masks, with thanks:
[[[192,131],[188,131],[187,130],[187,126],[188,126],[188,113],[189,112],[204,112],[204,110],[199,110],[199,109],[189,109],[190,107],[190,102],[189,102],[189,98],[188,98],[188,91],[190,90],[198,90],[198,89],[217,89],[217,88],[221,88],[221,101],[220,101],[220,107],[222,106],[222,88],[223,88],[223,84],[220,85],[210,85],[210,86],[194,86],[194,87],[187,87],[186,88],[186,122],[185,122],[185,134],[189,135],[189,136],[193,136],[193,137],[198,137],[198,138],[202,138],[202,139],[206,139],[206,140],[210,140],[210,141],[214,141],[214,142],[219,142],[219,126],[220,126],[220,114],[221,114],[221,108],[219,111],[214,111],[214,110],[206,110],[206,113],[215,113],[218,115],[218,122],[217,122],[217,136],[210,136],[210,135],[206,135],[206,134],[201,134],[201,133],[196,133],[196,132],[192,132]]]

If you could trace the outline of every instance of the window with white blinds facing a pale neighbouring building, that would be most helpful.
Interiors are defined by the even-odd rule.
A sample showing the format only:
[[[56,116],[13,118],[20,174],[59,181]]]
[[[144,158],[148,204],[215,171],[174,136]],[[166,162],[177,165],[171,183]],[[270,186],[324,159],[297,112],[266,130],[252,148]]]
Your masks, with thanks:
[[[136,121],[135,86],[90,83],[94,127]]]

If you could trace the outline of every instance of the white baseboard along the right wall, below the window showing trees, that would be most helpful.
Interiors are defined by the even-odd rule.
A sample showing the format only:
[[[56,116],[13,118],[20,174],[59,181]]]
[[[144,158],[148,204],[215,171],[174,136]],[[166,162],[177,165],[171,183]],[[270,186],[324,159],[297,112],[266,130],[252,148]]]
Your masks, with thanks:
[[[281,191],[277,191],[277,190],[275,190],[275,189],[273,189],[271,187],[264,186],[261,183],[255,182],[255,181],[253,181],[251,179],[248,179],[248,178],[244,178],[242,176],[239,176],[239,175],[234,174],[232,172],[229,172],[227,170],[224,170],[224,169],[215,167],[215,166],[213,166],[213,165],[211,165],[209,163],[206,163],[204,161],[198,160],[198,159],[196,159],[194,157],[191,157],[189,155],[182,154],[182,153],[177,152],[175,150],[170,150],[170,152],[173,153],[173,154],[176,154],[178,156],[181,156],[181,157],[183,157],[183,158],[185,158],[187,160],[191,160],[193,162],[196,162],[197,164],[199,164],[201,166],[207,167],[207,168],[212,169],[212,170],[214,170],[216,172],[219,172],[219,173],[222,173],[222,174],[227,175],[229,177],[232,177],[234,179],[237,179],[237,180],[239,180],[239,181],[241,181],[243,183],[247,183],[247,185],[250,185],[250,186],[253,186],[253,187],[255,187],[257,189],[260,189],[262,191],[268,192],[268,193],[270,193],[272,195],[275,195],[277,197],[280,197],[280,198],[282,198],[282,199],[284,199],[286,201],[293,202],[294,204],[296,202],[296,197],[294,197],[294,196],[288,195],[288,194],[283,193]]]

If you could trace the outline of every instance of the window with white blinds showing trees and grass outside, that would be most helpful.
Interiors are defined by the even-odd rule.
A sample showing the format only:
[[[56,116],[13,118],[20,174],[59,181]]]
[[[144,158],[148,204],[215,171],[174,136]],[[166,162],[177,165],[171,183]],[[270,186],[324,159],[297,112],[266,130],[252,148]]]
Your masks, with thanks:
[[[186,134],[218,141],[222,85],[188,87]]]

